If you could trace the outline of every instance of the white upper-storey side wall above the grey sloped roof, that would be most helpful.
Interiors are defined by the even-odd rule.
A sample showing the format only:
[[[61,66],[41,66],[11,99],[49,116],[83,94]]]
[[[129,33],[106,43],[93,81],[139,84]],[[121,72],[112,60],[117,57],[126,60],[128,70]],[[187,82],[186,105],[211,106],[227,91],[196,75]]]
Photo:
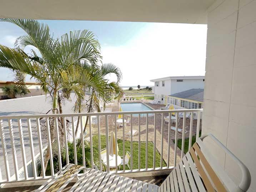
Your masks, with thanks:
[[[183,82],[177,82],[176,79],[171,80],[171,94],[176,94],[190,89],[204,89],[205,82],[203,79],[184,79]]]

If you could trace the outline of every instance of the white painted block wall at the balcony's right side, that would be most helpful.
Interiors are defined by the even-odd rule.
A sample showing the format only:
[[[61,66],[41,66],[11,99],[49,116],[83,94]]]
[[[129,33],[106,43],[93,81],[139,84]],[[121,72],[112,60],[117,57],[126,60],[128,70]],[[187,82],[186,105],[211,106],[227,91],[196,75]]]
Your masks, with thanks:
[[[251,173],[256,191],[256,0],[217,0],[208,13],[202,132],[213,133]],[[239,167],[209,145],[236,183]]]

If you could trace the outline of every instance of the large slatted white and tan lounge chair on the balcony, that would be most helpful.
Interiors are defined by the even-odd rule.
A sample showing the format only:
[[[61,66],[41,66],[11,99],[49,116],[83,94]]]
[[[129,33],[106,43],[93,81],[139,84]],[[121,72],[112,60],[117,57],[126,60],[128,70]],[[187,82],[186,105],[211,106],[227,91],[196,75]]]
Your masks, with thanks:
[[[240,168],[242,176],[239,184],[236,184],[226,170],[219,165],[216,157],[211,154],[203,142],[204,138],[210,137],[213,142],[230,156]],[[74,166],[74,165],[72,165]],[[65,166],[66,167],[66,166]],[[251,175],[248,168],[231,151],[229,151],[212,134],[202,135],[196,140],[189,152],[177,163],[170,175],[161,186],[133,180],[131,178],[110,174],[91,168],[79,167],[74,173],[65,174],[65,167],[44,183],[37,191],[54,189],[61,191],[77,177],[80,170],[85,173],[79,176],[77,182],[69,190],[72,191],[154,191],[154,192],[194,192],[194,191],[218,191],[218,192],[245,192],[251,184]]]

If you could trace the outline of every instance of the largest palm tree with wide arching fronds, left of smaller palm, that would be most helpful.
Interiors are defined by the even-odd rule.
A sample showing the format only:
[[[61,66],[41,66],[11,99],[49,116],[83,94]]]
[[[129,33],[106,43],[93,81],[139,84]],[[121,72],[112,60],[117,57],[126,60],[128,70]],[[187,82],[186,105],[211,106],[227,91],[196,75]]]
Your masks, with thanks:
[[[25,84],[26,75],[31,75],[39,83],[45,94],[53,96],[52,113],[57,113],[58,91],[67,89],[74,91],[80,98],[84,97],[83,86],[104,92],[104,87],[98,86],[97,77],[91,76],[81,67],[86,61],[96,65],[100,56],[100,44],[94,34],[88,30],[70,31],[57,39],[50,34],[49,27],[36,20],[0,19],[19,26],[26,32],[15,42],[15,49],[0,45],[0,67],[6,67],[16,72],[15,82]],[[23,49],[32,46],[31,55]],[[38,53],[39,52],[39,53]],[[54,123],[50,124],[54,131]],[[60,130],[60,135],[64,135]],[[55,141],[51,135],[52,142]],[[49,160],[49,151],[45,156],[45,166]],[[45,167],[46,168],[46,167]]]

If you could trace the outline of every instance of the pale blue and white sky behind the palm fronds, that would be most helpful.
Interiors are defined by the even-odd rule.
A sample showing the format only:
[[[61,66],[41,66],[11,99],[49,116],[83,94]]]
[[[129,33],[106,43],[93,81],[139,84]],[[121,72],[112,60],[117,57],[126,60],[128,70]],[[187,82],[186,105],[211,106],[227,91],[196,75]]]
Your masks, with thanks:
[[[88,29],[101,44],[103,63],[120,68],[122,86],[154,85],[151,79],[167,76],[205,75],[207,25],[116,21],[44,22],[55,37]],[[19,27],[0,22],[0,44],[14,47],[25,35]],[[31,47],[25,51],[30,53]],[[0,67],[0,80],[13,80],[10,70]],[[108,77],[116,81],[116,77]],[[27,77],[27,81],[30,80]]]

